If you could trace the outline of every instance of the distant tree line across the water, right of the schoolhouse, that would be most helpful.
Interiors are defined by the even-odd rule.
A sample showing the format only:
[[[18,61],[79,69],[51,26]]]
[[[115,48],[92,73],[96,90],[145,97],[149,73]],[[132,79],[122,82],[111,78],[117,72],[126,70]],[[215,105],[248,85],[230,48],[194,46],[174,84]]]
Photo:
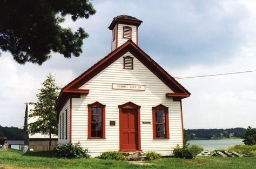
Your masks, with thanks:
[[[237,127],[231,129],[187,129],[188,140],[204,140],[204,139],[227,139],[227,138],[243,138],[246,129]]]

